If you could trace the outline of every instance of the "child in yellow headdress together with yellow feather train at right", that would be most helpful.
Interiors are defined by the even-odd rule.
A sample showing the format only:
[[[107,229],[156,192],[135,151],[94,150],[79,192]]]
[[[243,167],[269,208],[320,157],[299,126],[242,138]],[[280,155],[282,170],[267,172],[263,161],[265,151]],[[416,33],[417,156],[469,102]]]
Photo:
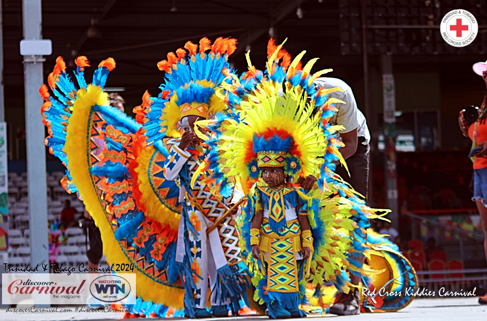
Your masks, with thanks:
[[[331,69],[310,75],[317,59],[302,67],[300,59],[305,53],[302,52],[291,63],[291,57],[282,45],[275,46],[272,39],[267,50],[265,74],[252,65],[247,55],[249,71],[240,78],[232,75],[233,81],[224,84],[228,102],[238,115],[217,116],[214,120],[199,122],[211,131],[205,138],[208,144],[216,145],[213,155],[208,156],[200,167],[211,172],[208,176],[213,179],[238,181],[247,194],[248,203],[238,224],[241,245],[248,253],[247,264],[256,287],[254,299],[267,303],[270,317],[297,317],[302,312],[297,308],[296,294],[299,299],[303,298],[306,281],[321,286],[324,281],[331,280],[343,293],[357,293],[358,289],[350,282],[348,274],[354,273],[368,284],[369,276],[375,272],[357,260],[356,253],[372,253],[375,251],[372,246],[390,247],[385,239],[376,237],[372,231],[367,231],[372,237],[363,237],[366,220],[380,218],[384,216],[380,212],[387,210],[368,208],[333,172],[333,161],[343,162],[343,158],[338,152],[340,142],[334,135],[338,128],[328,124],[335,110],[333,104],[339,100],[328,99],[328,94],[340,89],[317,91],[312,85],[314,79]],[[266,168],[266,162],[271,162],[272,167]],[[318,177],[318,184],[304,195],[296,182],[310,175]],[[283,194],[289,195],[278,197],[276,185],[281,187],[283,176],[287,176],[288,181],[282,187],[286,191]],[[269,251],[276,251],[271,247],[272,236],[279,236],[281,242],[282,233],[288,231],[283,218],[288,224],[294,216],[299,222],[295,224],[295,232],[299,230],[297,233],[301,233],[302,239],[299,242],[299,237],[290,237],[296,256],[288,255],[286,266],[269,259],[272,257]],[[270,233],[275,234],[269,237]],[[306,246],[308,244],[312,246]],[[298,260],[307,257],[307,248],[311,256],[303,268]],[[260,251],[265,254],[259,254]],[[285,256],[282,254],[283,260]],[[395,258],[395,266],[403,273],[397,289],[417,286],[407,260]],[[267,270],[264,268],[266,264]],[[286,277],[274,278],[276,274],[270,272],[269,264],[270,268],[276,264],[287,271],[286,277],[298,275],[299,292],[296,288],[293,288],[296,292],[290,291],[291,288],[286,288],[288,292],[272,291],[282,290],[275,288],[275,284],[286,282]],[[291,272],[296,268],[297,274]],[[309,278],[306,278],[308,271]],[[410,297],[397,300],[394,308],[403,307],[411,300]]]

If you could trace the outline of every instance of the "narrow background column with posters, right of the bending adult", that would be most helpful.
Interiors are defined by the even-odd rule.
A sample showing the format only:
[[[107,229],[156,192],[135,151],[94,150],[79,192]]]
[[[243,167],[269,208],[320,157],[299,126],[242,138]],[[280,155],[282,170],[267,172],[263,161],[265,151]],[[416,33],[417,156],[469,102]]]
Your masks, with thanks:
[[[384,95],[384,142],[386,164],[386,199],[387,208],[392,212],[387,216],[399,230],[399,211],[397,204],[397,170],[396,170],[396,88],[392,74],[392,56],[381,56],[382,93]]]

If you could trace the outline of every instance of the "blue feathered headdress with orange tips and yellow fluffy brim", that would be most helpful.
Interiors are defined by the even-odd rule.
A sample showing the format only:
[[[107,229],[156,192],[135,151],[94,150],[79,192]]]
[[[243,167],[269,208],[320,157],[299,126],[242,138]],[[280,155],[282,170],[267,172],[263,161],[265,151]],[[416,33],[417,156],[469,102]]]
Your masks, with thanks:
[[[166,73],[159,87],[162,92],[158,98],[146,93],[142,106],[134,109],[148,144],[165,136],[180,136],[178,122],[185,116],[207,119],[226,109],[218,91],[230,68],[228,57],[235,51],[236,43],[236,39],[220,37],[211,45],[205,37],[199,41],[197,53],[198,45],[188,41],[184,49],[168,53],[167,59],[157,63]]]

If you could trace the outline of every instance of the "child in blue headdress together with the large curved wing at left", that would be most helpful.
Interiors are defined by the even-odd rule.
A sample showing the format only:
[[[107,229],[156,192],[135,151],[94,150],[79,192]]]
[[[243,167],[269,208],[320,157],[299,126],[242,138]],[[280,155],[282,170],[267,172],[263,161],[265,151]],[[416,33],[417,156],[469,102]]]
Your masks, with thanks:
[[[131,266],[121,273],[136,274],[136,301],[130,303],[134,314],[164,317],[176,310],[172,316],[211,316],[204,309],[208,275],[214,315],[227,316],[228,303],[236,310],[245,293],[233,218],[220,221],[213,234],[205,233],[208,221],[227,211],[227,199],[216,199],[202,185],[191,189],[187,184],[191,166],[206,149],[191,133],[177,138],[182,119],[192,122],[226,109],[215,93],[235,43],[219,38],[211,46],[203,38],[198,53],[191,42],[185,46],[189,55],[183,48],[169,53],[158,64],[166,72],[161,94],[151,97],[146,92],[134,109],[135,119],[112,108],[103,90],[115,68],[112,58],[103,60],[87,83],[86,57],[75,60],[74,77],[59,57],[49,87],[40,88],[49,133],[45,142],[66,166],[63,187],[83,200],[100,229],[107,261]],[[181,154],[191,152],[189,160],[177,153],[181,141],[187,144]],[[171,180],[164,176],[165,164]]]

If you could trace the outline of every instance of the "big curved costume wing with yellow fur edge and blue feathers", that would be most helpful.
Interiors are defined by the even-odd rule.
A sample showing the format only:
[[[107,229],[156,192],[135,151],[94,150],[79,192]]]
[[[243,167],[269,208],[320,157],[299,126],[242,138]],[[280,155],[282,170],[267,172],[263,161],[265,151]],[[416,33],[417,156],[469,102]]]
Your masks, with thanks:
[[[49,151],[66,166],[63,186],[77,193],[100,229],[107,261],[132,264],[137,277],[134,311],[163,315],[183,309],[184,289],[174,262],[181,204],[179,189],[162,175],[164,154],[146,147],[141,125],[111,107],[103,91],[112,58],[87,85],[86,57],[77,60],[77,85],[62,58],[40,93]],[[160,295],[164,293],[165,295]]]

